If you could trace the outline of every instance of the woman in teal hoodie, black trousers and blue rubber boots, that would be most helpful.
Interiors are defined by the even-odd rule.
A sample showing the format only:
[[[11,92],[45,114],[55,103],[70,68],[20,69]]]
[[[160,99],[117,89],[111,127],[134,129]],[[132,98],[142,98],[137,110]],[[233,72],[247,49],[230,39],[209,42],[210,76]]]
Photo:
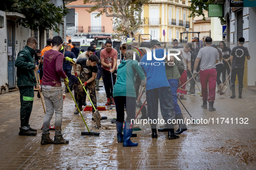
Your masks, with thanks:
[[[131,120],[135,120],[136,114],[136,91],[134,87],[136,75],[139,74],[142,80],[141,85],[145,85],[146,77],[138,61],[133,60],[133,50],[127,50],[124,59],[125,61],[122,61],[117,67],[117,82],[114,85],[113,98],[117,110],[117,142],[123,142],[123,147],[129,147],[138,146],[138,143],[133,143],[130,140],[133,133]],[[125,108],[127,117],[123,129]]]

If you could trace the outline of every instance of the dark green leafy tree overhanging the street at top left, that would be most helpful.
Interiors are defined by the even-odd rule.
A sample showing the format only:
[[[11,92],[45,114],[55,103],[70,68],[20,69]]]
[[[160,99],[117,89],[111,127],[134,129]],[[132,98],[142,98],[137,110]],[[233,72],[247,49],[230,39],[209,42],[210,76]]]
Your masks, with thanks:
[[[49,0],[5,0],[0,10],[25,15],[26,19],[18,19],[19,25],[34,31],[53,28],[58,32],[58,24],[68,14],[65,5],[56,7]]]

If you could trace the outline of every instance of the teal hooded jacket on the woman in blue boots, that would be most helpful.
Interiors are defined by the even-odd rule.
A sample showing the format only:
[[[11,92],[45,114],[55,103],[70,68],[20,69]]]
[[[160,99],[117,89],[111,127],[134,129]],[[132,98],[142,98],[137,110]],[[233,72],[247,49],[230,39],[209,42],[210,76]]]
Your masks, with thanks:
[[[137,60],[125,60],[117,67],[117,81],[113,89],[113,97],[127,96],[136,98],[135,80],[136,75],[145,80],[143,69]]]

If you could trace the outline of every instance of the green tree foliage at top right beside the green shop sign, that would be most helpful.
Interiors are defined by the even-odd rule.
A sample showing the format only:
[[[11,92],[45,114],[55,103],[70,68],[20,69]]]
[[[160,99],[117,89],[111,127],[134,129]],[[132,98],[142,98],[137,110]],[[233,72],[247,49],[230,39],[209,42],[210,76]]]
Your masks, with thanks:
[[[190,6],[188,9],[191,11],[191,14],[188,17],[203,16],[205,20],[204,10],[208,11],[208,5],[214,4],[215,0],[190,0]],[[226,23],[223,17],[219,17],[220,21]]]

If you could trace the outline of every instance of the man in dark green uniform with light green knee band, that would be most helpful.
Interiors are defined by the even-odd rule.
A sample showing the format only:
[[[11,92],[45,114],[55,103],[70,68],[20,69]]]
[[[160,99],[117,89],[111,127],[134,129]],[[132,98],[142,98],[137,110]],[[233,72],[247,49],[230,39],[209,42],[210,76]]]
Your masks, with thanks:
[[[36,135],[36,129],[32,129],[29,126],[29,117],[34,100],[34,86],[41,90],[40,85],[39,87],[37,86],[36,77],[33,71],[38,70],[38,67],[33,60],[36,44],[36,38],[28,38],[27,45],[19,52],[15,61],[15,66],[17,67],[17,86],[19,87],[20,93],[19,135]]]

